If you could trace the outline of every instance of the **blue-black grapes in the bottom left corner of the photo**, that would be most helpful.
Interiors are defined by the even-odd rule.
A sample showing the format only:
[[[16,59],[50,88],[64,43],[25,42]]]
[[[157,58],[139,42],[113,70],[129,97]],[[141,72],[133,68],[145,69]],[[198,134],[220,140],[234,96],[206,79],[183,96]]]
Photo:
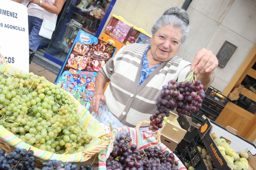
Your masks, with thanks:
[[[33,150],[16,148],[5,155],[4,150],[0,150],[1,170],[33,170],[35,168],[35,157]]]

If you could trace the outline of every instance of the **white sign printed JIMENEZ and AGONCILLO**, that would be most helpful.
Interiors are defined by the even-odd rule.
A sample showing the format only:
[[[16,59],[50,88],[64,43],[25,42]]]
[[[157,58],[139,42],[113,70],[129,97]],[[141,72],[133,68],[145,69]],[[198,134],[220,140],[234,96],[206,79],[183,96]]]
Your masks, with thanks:
[[[0,53],[9,65],[29,71],[28,9],[11,0],[0,0]]]

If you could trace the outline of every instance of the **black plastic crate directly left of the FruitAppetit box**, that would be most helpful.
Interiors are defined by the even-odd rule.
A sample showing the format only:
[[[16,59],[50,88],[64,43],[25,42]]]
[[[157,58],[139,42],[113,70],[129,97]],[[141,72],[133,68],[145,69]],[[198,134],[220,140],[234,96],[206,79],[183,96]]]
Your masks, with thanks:
[[[179,158],[184,165],[185,162],[190,162],[195,170],[207,170],[197,146],[204,147],[203,141],[198,135],[185,147]]]

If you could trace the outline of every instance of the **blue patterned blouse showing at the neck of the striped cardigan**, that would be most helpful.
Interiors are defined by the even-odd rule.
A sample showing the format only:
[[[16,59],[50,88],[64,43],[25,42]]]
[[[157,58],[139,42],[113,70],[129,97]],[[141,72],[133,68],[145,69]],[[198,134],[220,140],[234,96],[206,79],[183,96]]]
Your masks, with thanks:
[[[148,52],[149,48],[150,48],[150,45],[148,46],[148,48],[146,49],[146,51],[145,51],[145,53],[143,55],[142,69],[141,69],[141,73],[140,73],[140,81],[139,81],[138,87],[157,68],[157,66],[159,66],[161,64],[161,63],[159,63],[158,65],[155,65],[154,67],[152,67],[149,70],[149,68],[148,68],[148,59],[147,59],[147,52]]]

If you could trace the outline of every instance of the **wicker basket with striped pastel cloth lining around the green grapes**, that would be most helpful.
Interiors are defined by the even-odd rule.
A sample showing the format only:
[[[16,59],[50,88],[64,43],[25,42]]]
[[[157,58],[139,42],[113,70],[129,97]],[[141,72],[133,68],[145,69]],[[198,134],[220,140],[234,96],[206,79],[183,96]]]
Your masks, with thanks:
[[[7,65],[5,62],[4,57],[0,54],[0,70],[4,70],[8,74],[13,74],[16,71],[19,73],[24,73],[22,70],[16,69],[10,65]],[[76,102],[75,107],[78,108],[77,114],[80,117],[80,123],[83,124],[88,133],[93,136],[93,140],[86,145],[85,151],[75,153],[74,155],[64,155],[64,154],[55,154],[49,151],[40,150],[35,148],[31,145],[26,144],[21,139],[17,138],[13,133],[6,130],[4,127],[0,126],[0,148],[9,153],[15,148],[25,148],[31,149],[34,151],[35,156],[35,166],[38,168],[42,168],[45,165],[42,162],[49,161],[51,159],[60,158],[57,160],[70,160],[67,162],[85,162],[91,159],[96,153],[100,152],[101,150],[107,148],[110,144],[110,135],[105,133],[105,130],[99,122],[91,116],[90,112],[86,110],[73,96],[71,96]],[[95,134],[95,136],[94,136]],[[15,147],[14,147],[15,146]],[[41,155],[40,155],[41,154]],[[39,156],[38,156],[39,155]],[[43,156],[42,156],[43,155]],[[45,156],[47,155],[47,156]]]

